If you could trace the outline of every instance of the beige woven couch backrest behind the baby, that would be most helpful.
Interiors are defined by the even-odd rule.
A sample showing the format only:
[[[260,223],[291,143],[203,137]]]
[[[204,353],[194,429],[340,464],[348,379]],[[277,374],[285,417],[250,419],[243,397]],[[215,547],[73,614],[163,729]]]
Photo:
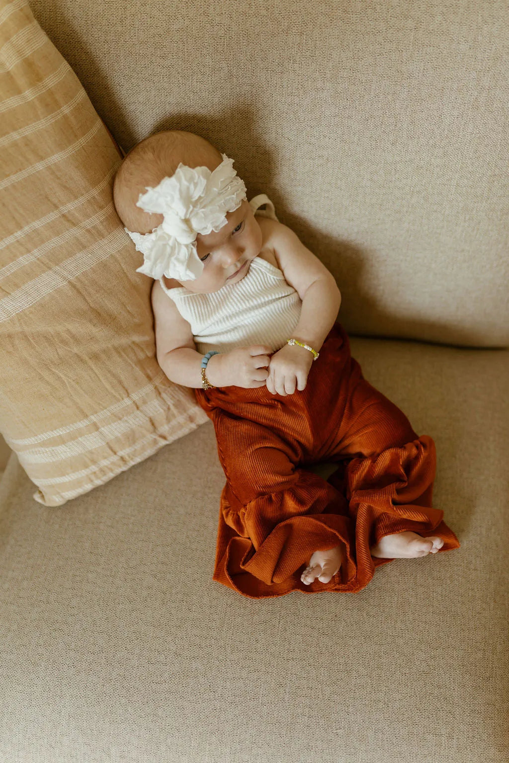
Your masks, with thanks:
[[[507,5],[32,0],[124,150],[192,130],[336,276],[350,333],[509,345]]]

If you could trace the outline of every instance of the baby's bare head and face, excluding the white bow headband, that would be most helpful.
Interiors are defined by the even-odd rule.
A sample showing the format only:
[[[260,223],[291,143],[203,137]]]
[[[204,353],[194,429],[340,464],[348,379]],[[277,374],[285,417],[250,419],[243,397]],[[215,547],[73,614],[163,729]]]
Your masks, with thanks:
[[[180,163],[192,169],[207,167],[213,172],[222,162],[221,153],[208,140],[183,130],[165,130],[142,140],[125,156],[114,180],[118,216],[132,233],[151,233],[163,223],[163,215],[137,207],[140,195],[147,188],[156,188],[163,178],[171,178]],[[259,254],[262,232],[246,198],[234,211],[227,212],[226,220],[217,232],[196,234],[203,272],[198,278],[178,281],[189,291],[210,293],[224,286],[228,278],[229,283],[240,281],[249,269],[249,263],[245,263]],[[241,266],[239,275],[234,275]]]

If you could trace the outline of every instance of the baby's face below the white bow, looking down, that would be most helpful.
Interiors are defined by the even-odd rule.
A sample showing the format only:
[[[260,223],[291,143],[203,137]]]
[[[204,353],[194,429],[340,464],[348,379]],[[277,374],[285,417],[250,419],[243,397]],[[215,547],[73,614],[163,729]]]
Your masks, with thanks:
[[[262,230],[249,202],[244,199],[240,207],[227,213],[226,219],[226,225],[217,233],[214,230],[206,236],[198,233],[196,250],[204,268],[199,278],[179,281],[188,291],[210,294],[226,283],[241,281],[250,269],[251,260],[259,255]]]

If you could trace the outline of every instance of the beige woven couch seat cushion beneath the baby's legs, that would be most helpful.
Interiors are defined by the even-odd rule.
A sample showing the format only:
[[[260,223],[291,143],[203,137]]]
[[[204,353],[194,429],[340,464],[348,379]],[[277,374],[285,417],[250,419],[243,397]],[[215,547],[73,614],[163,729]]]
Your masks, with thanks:
[[[437,443],[462,544],[359,594],[212,581],[212,423],[59,509],[0,486],[0,755],[188,763],[507,761],[509,352],[351,340]]]

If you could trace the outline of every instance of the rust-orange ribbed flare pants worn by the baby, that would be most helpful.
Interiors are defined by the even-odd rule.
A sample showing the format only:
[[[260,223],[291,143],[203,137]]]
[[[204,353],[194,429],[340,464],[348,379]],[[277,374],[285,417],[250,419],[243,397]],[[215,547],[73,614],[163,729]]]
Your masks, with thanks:
[[[304,390],[266,386],[196,389],[214,422],[226,476],[213,579],[251,598],[291,591],[361,591],[375,567],[370,546],[413,530],[458,539],[432,506],[436,451],[408,418],[362,376],[341,324],[311,364]],[[326,481],[302,467],[337,462]],[[342,540],[346,562],[329,583],[301,573],[311,554]],[[409,562],[410,563],[410,562]]]

